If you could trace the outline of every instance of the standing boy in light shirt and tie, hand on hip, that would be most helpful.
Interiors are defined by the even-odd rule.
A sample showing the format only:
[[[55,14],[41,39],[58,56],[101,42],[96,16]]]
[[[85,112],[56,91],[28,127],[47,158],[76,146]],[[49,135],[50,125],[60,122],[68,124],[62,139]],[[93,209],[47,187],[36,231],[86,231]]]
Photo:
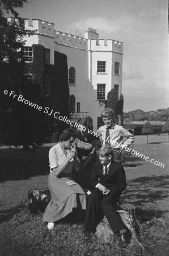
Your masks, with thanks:
[[[97,131],[100,134],[100,142],[103,145],[111,145],[116,153],[114,155],[114,160],[119,159],[118,155],[120,155],[121,151],[124,150],[125,147],[128,147],[133,143],[134,136],[122,126],[114,123],[115,114],[112,109],[105,108],[101,117],[104,125]],[[123,142],[124,137],[126,138],[125,142]]]

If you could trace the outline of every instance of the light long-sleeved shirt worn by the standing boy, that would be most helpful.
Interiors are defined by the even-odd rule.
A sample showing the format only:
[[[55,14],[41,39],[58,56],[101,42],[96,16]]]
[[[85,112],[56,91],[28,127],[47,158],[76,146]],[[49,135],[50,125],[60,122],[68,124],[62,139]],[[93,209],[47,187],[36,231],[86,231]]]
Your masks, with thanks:
[[[105,145],[105,134],[107,131],[108,127],[106,125],[101,126],[98,130],[97,133],[102,135],[100,136],[100,141],[103,145]],[[125,130],[124,127],[120,125],[113,125],[113,127],[109,128],[109,136],[110,139],[107,141],[111,142],[112,147],[118,147],[117,144],[122,144],[123,147],[129,146],[130,144],[133,143],[134,141],[134,135],[129,133],[129,131]],[[123,143],[123,138],[127,138],[126,141]]]

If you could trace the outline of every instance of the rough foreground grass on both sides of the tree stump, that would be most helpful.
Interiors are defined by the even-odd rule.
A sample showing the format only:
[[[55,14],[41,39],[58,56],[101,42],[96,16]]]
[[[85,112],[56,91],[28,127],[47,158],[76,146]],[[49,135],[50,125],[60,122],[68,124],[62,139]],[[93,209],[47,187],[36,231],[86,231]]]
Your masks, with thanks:
[[[151,213],[150,213],[151,212]],[[143,220],[143,210],[136,208],[136,224],[140,231],[143,255],[167,256],[169,253],[168,225],[161,218],[154,216],[155,210],[149,209],[152,218]],[[154,216],[154,217],[153,217]],[[0,255],[138,255],[133,250],[112,247],[102,238],[94,236],[86,242],[83,236],[83,222],[64,220],[58,222],[54,230],[48,230],[42,221],[43,213],[37,215],[29,212],[27,204],[20,205],[8,221],[1,224]],[[142,217],[140,219],[140,217]]]

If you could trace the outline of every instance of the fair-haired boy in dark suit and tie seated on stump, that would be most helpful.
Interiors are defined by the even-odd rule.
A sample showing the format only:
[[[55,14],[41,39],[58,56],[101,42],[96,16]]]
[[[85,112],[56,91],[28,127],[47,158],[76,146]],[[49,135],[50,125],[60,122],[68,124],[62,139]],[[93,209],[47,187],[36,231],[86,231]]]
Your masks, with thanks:
[[[119,234],[119,247],[126,247],[131,240],[132,233],[116,212],[116,204],[121,192],[126,188],[124,168],[120,163],[112,161],[113,148],[105,145],[99,150],[99,160],[92,172],[88,197],[86,218],[84,221],[84,235],[94,234],[99,223],[100,212],[107,217],[114,234]]]

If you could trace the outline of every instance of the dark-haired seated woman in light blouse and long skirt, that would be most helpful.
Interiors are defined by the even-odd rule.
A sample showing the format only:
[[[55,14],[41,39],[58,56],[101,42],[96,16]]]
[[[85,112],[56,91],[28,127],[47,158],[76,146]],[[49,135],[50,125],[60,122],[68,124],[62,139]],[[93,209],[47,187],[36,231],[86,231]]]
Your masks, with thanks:
[[[49,150],[48,188],[52,199],[43,217],[43,221],[49,222],[48,229],[53,229],[54,222],[64,218],[73,208],[86,209],[86,195],[72,180],[73,168],[78,167],[77,150],[72,148],[76,137],[73,130],[66,129],[60,142]]]

